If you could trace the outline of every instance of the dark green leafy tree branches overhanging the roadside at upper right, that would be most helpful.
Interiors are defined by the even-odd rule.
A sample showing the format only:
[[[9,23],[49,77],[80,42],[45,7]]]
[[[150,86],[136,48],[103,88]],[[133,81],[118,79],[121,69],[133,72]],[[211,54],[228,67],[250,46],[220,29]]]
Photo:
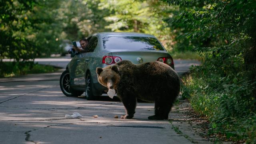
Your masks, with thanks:
[[[165,0],[166,1],[166,0]],[[167,0],[179,4],[180,12],[167,19],[170,26],[180,30],[179,43],[190,45],[206,55],[213,70],[237,73],[230,68],[241,57],[240,70],[248,72],[248,80],[256,80],[256,2],[254,0]],[[207,61],[206,61],[207,62]]]

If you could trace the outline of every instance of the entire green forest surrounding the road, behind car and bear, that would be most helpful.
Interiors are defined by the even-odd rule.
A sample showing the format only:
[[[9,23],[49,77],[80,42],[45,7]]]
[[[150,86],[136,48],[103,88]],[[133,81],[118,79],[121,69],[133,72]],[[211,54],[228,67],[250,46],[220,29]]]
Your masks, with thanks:
[[[209,135],[256,143],[255,18],[255,0],[0,0],[0,76],[61,54],[66,40],[152,34],[171,54],[200,54],[182,97],[210,121]]]

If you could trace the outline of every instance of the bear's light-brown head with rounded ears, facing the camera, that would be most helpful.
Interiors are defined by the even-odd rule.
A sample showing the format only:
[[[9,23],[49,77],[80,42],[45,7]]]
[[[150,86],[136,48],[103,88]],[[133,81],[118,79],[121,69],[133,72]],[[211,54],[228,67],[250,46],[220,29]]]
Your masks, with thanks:
[[[98,76],[98,82],[102,86],[108,89],[116,89],[117,84],[120,80],[120,75],[118,74],[118,67],[116,65],[107,66],[105,68],[96,68],[96,73]]]

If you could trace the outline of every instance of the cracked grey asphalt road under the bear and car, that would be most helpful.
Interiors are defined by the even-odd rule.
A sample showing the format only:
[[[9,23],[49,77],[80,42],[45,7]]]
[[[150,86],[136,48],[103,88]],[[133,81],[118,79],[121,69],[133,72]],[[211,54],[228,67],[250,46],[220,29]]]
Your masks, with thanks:
[[[55,62],[64,68],[68,59]],[[192,63],[175,60],[176,70],[182,74]],[[124,107],[117,98],[105,96],[88,101],[84,96],[64,96],[58,81],[60,74],[61,71],[0,79],[0,144],[191,143],[177,134],[168,120],[147,119],[154,115],[153,103],[139,102],[134,119],[123,120],[120,116],[125,113]],[[73,112],[82,117],[65,118]],[[114,118],[116,115],[118,119]]]

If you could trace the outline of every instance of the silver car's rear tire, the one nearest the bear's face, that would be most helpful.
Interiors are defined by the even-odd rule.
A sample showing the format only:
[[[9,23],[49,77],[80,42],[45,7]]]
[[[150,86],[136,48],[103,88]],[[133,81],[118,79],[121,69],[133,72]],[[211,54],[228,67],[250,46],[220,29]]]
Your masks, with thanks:
[[[86,74],[85,79],[85,96],[87,100],[94,100],[96,96],[92,93],[92,76],[90,73]]]

